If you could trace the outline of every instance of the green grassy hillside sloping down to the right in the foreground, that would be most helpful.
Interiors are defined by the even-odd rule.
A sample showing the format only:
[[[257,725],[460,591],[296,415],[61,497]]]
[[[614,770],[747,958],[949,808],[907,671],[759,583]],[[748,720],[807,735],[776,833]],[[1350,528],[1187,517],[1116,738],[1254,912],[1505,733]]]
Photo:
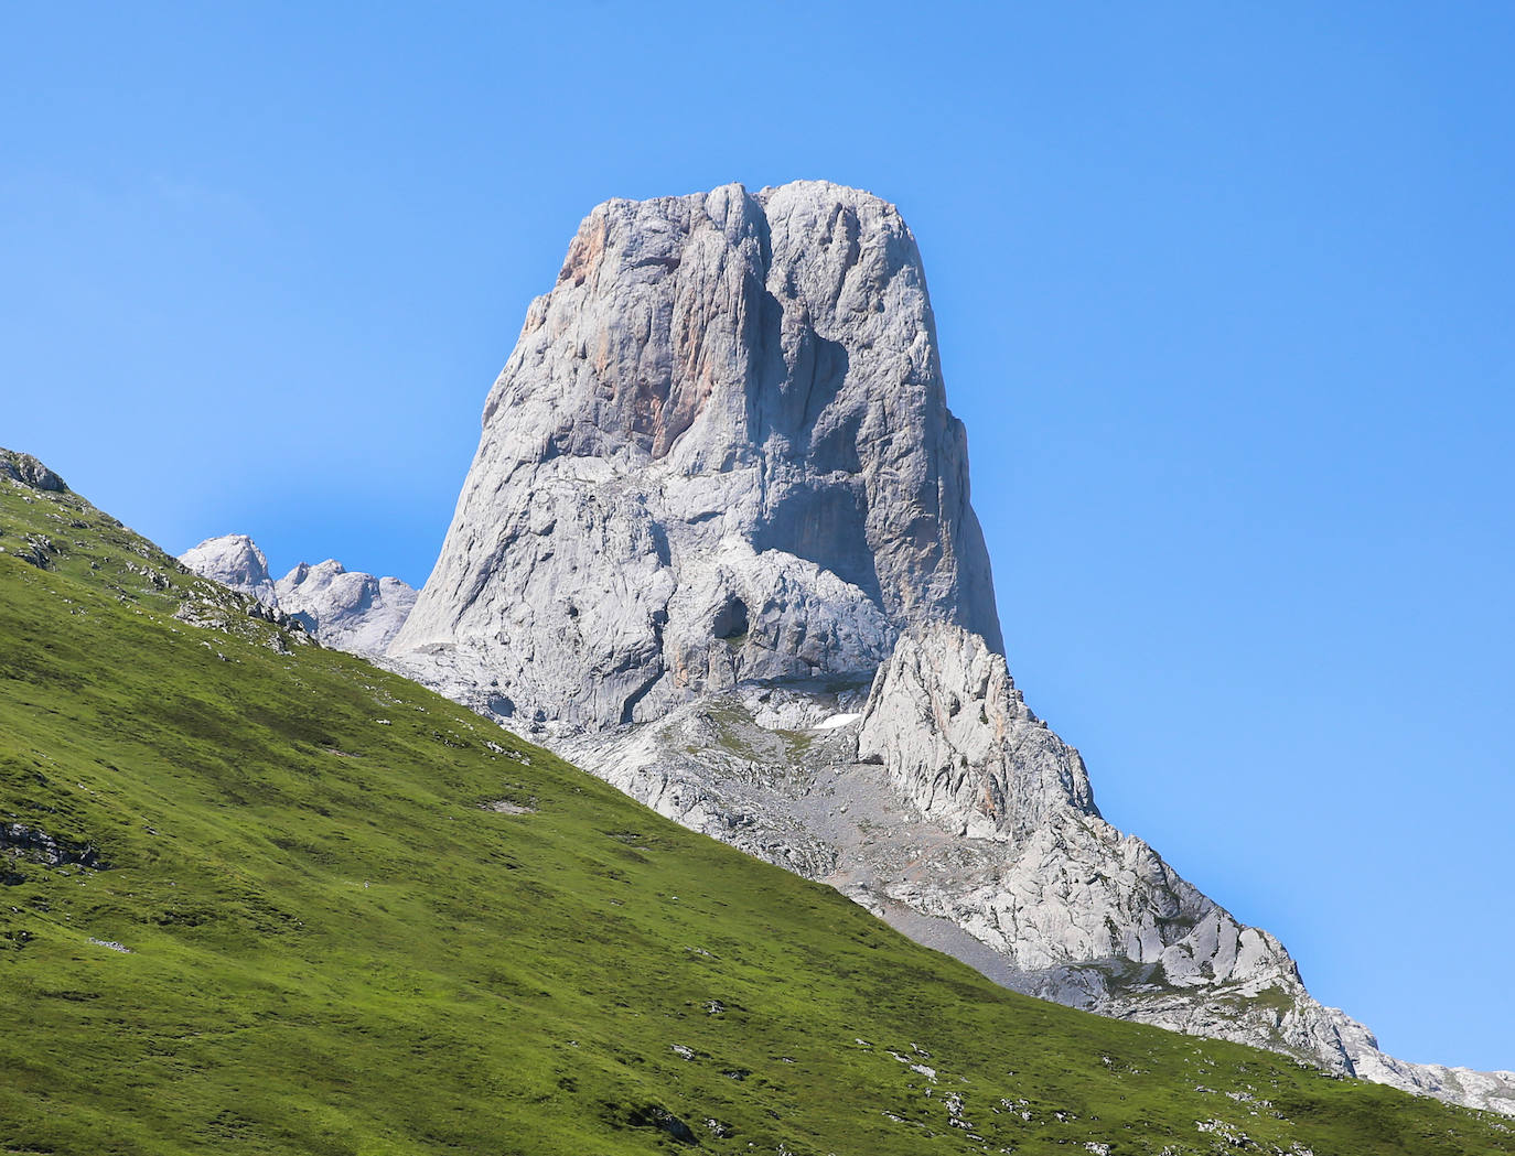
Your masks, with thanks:
[[[0,455],[0,1151],[1515,1153],[1003,991],[39,477]]]

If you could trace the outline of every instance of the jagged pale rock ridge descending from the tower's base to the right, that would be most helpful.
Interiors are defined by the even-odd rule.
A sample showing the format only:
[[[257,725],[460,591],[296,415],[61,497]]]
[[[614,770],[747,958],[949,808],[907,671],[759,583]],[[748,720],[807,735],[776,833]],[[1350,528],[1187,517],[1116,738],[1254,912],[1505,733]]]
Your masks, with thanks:
[[[883,891],[988,945],[1011,965],[1012,986],[1515,1112],[1515,1074],[1385,1054],[1367,1027],[1309,994],[1274,936],[1106,823],[1079,753],[1030,714],[982,639],[945,624],[904,635],[874,680],[857,748],[926,820],[964,842],[1003,844],[982,873]]]

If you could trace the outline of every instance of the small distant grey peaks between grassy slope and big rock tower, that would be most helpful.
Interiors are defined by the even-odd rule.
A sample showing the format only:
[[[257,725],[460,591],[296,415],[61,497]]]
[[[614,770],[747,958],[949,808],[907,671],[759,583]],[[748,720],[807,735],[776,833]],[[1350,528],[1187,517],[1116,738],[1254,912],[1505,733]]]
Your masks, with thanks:
[[[348,571],[335,559],[301,562],[274,582],[268,559],[245,533],[208,538],[179,561],[289,615],[323,645],[365,658],[385,651],[415,605],[415,591],[400,579]]]

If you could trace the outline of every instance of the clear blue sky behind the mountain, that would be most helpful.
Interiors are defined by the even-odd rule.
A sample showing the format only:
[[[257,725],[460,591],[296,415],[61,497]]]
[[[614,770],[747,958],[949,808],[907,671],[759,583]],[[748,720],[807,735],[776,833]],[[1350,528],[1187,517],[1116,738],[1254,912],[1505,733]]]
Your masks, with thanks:
[[[591,206],[873,189],[1107,818],[1515,1068],[1512,58],[1471,2],[6,5],[0,444],[420,583]]]

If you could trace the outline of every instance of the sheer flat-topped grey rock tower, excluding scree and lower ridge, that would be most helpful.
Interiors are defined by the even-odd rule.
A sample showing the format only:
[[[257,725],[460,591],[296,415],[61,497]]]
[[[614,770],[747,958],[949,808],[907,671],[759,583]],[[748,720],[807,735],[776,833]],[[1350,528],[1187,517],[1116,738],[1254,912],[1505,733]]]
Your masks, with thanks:
[[[483,412],[401,670],[514,726],[1000,647],[915,239],[856,189],[609,202]]]

